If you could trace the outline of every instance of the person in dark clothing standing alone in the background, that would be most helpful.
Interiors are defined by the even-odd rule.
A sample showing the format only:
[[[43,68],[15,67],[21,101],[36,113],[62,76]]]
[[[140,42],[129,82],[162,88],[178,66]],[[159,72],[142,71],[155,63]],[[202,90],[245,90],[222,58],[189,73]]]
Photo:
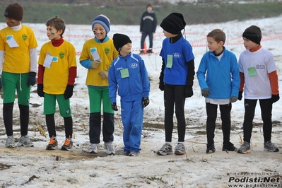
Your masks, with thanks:
[[[155,12],[153,11],[153,6],[151,4],[147,5],[147,11],[144,12],[141,16],[140,22],[140,32],[141,36],[141,51],[140,54],[144,54],[144,41],[149,36],[149,49],[147,53],[153,53],[153,33],[155,33],[155,28],[157,28],[157,17],[155,16]]]

